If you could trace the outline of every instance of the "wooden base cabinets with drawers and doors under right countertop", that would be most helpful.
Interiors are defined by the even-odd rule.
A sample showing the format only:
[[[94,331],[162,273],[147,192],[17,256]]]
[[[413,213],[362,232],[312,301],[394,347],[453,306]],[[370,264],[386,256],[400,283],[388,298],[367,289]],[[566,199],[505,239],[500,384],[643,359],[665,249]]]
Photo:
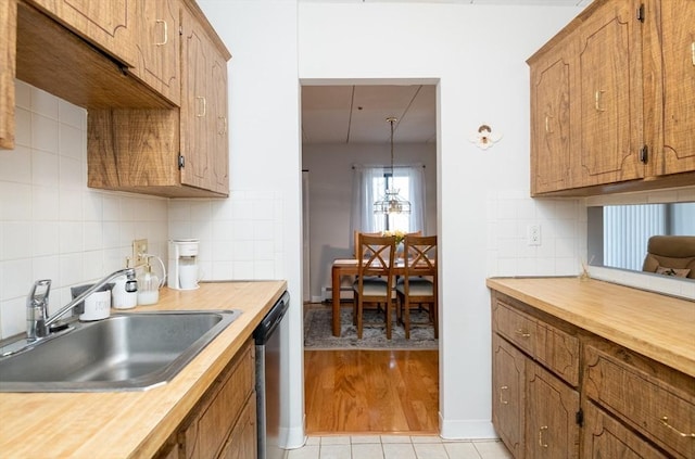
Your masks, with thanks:
[[[692,378],[494,290],[492,331],[492,422],[516,459],[695,457]]]

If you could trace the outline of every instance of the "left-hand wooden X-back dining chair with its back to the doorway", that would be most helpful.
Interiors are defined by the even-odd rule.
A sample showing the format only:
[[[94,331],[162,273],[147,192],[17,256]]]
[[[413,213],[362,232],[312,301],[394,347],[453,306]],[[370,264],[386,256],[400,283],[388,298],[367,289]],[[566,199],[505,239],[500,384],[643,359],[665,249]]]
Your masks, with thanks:
[[[363,334],[365,304],[384,304],[387,340],[391,340],[394,255],[394,237],[359,234],[357,279],[353,283],[355,295],[353,319],[357,326],[357,339],[362,339]]]

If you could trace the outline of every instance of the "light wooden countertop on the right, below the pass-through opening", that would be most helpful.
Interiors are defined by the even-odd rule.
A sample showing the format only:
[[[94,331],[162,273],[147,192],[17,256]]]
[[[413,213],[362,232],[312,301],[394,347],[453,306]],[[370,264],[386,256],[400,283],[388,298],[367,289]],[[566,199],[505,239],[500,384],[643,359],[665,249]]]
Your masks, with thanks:
[[[492,278],[490,289],[695,378],[695,302],[578,278]]]

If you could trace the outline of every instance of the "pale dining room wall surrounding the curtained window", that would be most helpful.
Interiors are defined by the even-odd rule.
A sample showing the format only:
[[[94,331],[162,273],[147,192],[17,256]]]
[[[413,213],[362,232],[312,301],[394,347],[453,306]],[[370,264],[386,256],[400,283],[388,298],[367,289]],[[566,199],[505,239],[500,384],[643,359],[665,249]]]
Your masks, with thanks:
[[[437,234],[437,145],[394,145],[395,164],[425,166],[427,227]],[[390,148],[381,144],[305,144],[302,167],[308,169],[311,295],[320,302],[321,289],[331,284],[330,266],[336,258],[352,256],[352,180],[354,164],[390,164]]]

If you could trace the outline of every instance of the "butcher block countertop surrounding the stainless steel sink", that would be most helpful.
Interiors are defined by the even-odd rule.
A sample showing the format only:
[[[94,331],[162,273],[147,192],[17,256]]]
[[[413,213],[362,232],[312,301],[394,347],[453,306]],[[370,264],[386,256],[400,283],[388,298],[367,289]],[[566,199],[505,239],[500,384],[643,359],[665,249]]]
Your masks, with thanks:
[[[160,302],[129,311],[240,309],[243,314],[174,380],[144,392],[0,394],[2,458],[153,456],[287,289],[285,281],[163,288]]]

